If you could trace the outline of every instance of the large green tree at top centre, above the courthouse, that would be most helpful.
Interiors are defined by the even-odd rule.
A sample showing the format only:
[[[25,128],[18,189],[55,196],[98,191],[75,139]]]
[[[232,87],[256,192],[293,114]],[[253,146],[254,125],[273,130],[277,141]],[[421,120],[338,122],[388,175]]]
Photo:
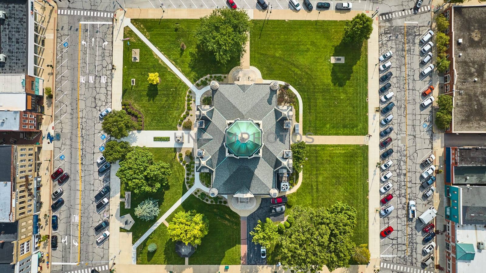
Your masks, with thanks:
[[[226,65],[243,56],[251,25],[250,17],[242,9],[215,9],[201,18],[195,37],[200,49]]]

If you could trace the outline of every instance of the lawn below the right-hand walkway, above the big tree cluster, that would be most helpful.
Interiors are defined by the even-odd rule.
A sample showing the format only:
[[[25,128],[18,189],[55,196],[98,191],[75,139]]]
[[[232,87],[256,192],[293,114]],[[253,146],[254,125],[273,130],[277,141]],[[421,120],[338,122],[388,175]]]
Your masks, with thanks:
[[[346,202],[358,212],[353,241],[368,243],[368,146],[307,145],[306,157],[302,185],[289,202],[313,208]]]

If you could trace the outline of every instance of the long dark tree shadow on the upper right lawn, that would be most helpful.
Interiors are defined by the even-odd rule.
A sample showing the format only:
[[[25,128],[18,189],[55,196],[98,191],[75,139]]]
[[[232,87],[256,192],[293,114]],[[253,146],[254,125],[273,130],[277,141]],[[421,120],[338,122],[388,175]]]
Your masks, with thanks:
[[[361,59],[361,49],[363,43],[346,43],[341,40],[341,43],[334,48],[332,56],[344,57],[344,64],[332,64],[331,82],[333,85],[343,87],[347,81],[351,79],[353,67]]]

